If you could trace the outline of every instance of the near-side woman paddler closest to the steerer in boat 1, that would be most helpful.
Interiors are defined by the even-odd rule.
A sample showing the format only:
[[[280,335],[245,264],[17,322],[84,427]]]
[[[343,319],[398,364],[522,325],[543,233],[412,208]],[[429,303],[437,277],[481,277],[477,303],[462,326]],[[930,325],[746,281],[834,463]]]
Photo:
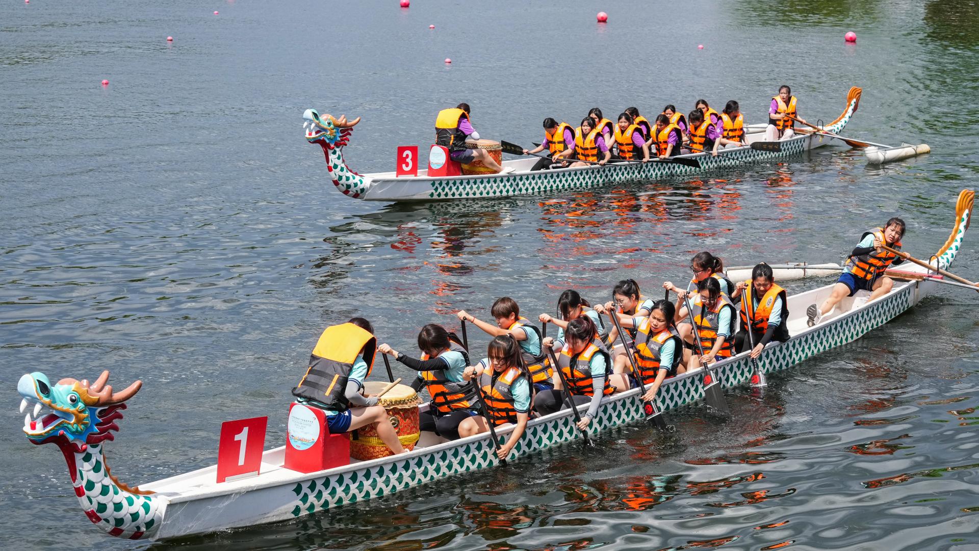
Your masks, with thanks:
[[[731,297],[738,298],[742,293],[747,296],[741,300],[741,331],[734,335],[734,349],[740,353],[754,343],[751,357],[757,358],[769,342],[789,340],[788,298],[785,290],[775,285],[771,266],[765,262],[751,270],[750,280],[737,283]],[[751,339],[748,339],[749,327]]]

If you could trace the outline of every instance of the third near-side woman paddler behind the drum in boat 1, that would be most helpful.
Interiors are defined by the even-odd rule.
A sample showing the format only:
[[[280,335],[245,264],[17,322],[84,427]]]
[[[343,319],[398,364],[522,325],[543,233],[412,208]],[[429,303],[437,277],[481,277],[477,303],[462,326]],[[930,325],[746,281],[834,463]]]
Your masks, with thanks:
[[[676,330],[675,318],[676,309],[669,300],[653,302],[648,317],[620,317],[623,329],[631,329],[636,334],[632,354],[642,377],[642,385],[651,386],[643,395],[643,400],[655,398],[656,391],[666,378],[686,372],[681,362],[683,344]],[[630,374],[630,370],[629,358],[625,354],[616,356],[612,372],[624,376]],[[631,380],[634,381],[634,378]],[[612,384],[616,385],[616,381],[613,380]]]

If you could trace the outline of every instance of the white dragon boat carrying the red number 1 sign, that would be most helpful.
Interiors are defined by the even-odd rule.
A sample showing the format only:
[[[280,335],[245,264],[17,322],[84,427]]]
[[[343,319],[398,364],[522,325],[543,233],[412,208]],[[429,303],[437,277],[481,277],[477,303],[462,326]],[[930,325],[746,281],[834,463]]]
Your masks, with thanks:
[[[959,194],[952,235],[932,256],[937,267],[948,268],[956,259],[969,226],[973,196],[969,190]],[[807,326],[806,307],[827,298],[833,286],[789,297],[792,338],[769,344],[758,360],[761,371],[783,370],[859,339],[940,285],[925,268],[914,266],[906,273],[909,280],[897,282],[881,298],[867,302],[866,292],[859,292],[844,299],[838,310],[815,327]],[[747,353],[741,353],[718,362],[712,372],[723,387],[729,388],[748,383],[752,365]],[[700,369],[668,379],[656,398],[660,408],[669,411],[702,399],[704,375]],[[208,467],[150,482],[142,489],[131,488],[110,475],[103,446],[113,439],[113,432],[118,430],[116,422],[122,417],[120,410],[140,389],[140,382],[114,392],[106,385],[108,377],[109,372],[103,372],[92,384],[74,379],[52,384],[44,374],[35,372],[21,378],[18,392],[23,397],[21,411],[28,410],[23,427],[28,440],[58,444],[85,515],[97,527],[120,537],[172,538],[285,521],[497,464],[489,434],[448,441],[422,433],[418,445],[408,453],[351,460],[350,465],[310,474],[285,469],[284,447],[277,447],[263,452],[260,474],[252,478],[218,483],[215,467]],[[585,408],[586,404],[580,409]],[[602,399],[588,432],[596,434],[644,418],[639,390],[628,390]],[[509,430],[500,431],[500,435]],[[581,437],[571,410],[559,411],[531,421],[510,459]]]

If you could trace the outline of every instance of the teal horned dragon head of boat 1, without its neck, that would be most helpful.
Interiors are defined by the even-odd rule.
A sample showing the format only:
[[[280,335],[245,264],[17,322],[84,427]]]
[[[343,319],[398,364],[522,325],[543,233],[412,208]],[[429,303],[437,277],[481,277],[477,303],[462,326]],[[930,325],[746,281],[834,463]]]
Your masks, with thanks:
[[[17,383],[21,394],[21,412],[30,408],[23,418],[23,433],[31,442],[57,443],[59,446],[83,450],[89,444],[114,439],[116,421],[122,418],[125,400],[143,385],[136,381],[125,390],[114,392],[106,385],[109,372],[92,384],[88,381],[62,379],[52,385],[40,372],[26,374]]]

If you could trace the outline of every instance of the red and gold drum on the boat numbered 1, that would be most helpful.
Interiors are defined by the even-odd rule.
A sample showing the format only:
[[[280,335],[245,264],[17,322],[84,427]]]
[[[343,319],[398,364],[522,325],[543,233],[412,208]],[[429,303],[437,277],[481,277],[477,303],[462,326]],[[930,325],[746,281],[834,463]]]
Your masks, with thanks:
[[[364,393],[376,394],[388,384],[383,381],[367,381],[364,383]],[[395,385],[388,390],[378,405],[388,410],[388,418],[397,432],[404,449],[412,449],[421,437],[421,427],[418,421],[418,404],[422,403],[418,393],[407,385]],[[350,440],[350,457],[367,461],[379,457],[394,455],[388,444],[381,441],[374,430],[374,425],[357,429],[356,436]]]

